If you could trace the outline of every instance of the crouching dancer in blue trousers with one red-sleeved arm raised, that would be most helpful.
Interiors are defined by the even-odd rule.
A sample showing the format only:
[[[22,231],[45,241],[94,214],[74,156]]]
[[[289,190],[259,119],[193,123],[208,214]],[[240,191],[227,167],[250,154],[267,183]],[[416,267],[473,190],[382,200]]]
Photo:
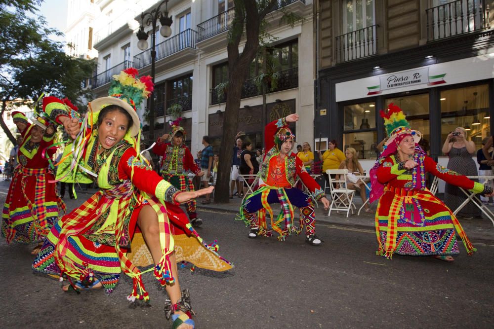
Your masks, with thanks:
[[[264,143],[268,151],[259,171],[260,187],[244,200],[240,215],[250,226],[249,238],[271,236],[272,230],[266,227],[267,211],[271,217],[271,228],[279,234],[278,240],[285,240],[290,233],[299,234],[305,224],[305,241],[320,246],[322,241],[315,234],[316,219],[311,197],[292,187],[296,177],[300,177],[314,199],[321,200],[325,209],[329,208],[329,201],[321,186],[307,173],[302,160],[291,151],[295,135],[288,128],[288,123],[298,119],[298,114],[294,113],[266,125]],[[270,206],[272,203],[280,203],[282,206],[282,212],[276,220]],[[300,209],[300,228],[293,225],[293,206]],[[281,227],[282,223],[285,224],[284,228]]]

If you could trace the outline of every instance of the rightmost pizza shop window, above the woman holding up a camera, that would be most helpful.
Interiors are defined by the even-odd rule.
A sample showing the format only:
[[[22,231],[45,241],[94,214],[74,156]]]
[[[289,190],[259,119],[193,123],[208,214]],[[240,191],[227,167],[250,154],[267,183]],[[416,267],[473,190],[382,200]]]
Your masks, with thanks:
[[[463,127],[478,149],[490,135],[490,121],[487,84],[441,91],[441,143],[456,127]]]

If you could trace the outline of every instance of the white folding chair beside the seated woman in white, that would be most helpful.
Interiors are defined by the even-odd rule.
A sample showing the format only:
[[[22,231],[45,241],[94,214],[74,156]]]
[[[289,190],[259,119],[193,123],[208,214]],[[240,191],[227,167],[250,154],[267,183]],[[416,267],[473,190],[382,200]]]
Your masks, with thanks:
[[[328,216],[331,215],[332,210],[336,210],[337,213],[340,211],[346,211],[346,217],[348,218],[348,213],[352,210],[354,214],[354,209],[357,207],[353,204],[353,197],[355,195],[354,189],[349,189],[346,184],[346,175],[348,174],[347,169],[328,169],[326,174],[329,176],[329,188],[331,190],[331,206],[329,207]],[[331,175],[336,175],[338,178],[331,178]],[[338,185],[338,186],[336,186]]]

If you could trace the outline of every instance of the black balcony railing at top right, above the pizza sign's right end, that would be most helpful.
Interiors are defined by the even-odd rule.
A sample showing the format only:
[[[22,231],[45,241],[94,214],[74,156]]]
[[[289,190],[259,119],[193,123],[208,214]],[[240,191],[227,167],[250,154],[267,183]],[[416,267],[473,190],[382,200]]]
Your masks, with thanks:
[[[427,41],[488,28],[484,0],[457,0],[427,9]]]

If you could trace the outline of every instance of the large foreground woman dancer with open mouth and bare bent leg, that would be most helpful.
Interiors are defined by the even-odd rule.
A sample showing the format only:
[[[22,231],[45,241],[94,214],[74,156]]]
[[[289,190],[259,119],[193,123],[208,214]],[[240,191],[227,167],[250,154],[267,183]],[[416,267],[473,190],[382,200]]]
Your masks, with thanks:
[[[170,297],[165,310],[173,328],[192,328],[190,298],[188,291],[180,292],[176,262],[186,260],[216,271],[232,265],[216,253],[217,245],[203,242],[178,206],[212,188],[181,192],[141,160],[134,104],[150,94],[153,84],[149,76],[137,79],[136,74],[130,68],[115,75],[111,96],[89,103],[82,125],[77,113],[59,100],[43,99],[46,114],[75,138],[72,164],[78,166],[72,170],[94,176],[100,190],[54,224],[33,268],[66,278],[66,291],[102,286],[108,293],[123,271],[133,280],[127,297],[131,301],[149,299],[141,275],[153,271]],[[141,239],[134,234],[137,226]],[[175,246],[181,251],[178,256]],[[126,254],[129,250],[132,253]],[[142,272],[136,267],[150,263],[154,268]]]

